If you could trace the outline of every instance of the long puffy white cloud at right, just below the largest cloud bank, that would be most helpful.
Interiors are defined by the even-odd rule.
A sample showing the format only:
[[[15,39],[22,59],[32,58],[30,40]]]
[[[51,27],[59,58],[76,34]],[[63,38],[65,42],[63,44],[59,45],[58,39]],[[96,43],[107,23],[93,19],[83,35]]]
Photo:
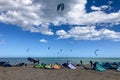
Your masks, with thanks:
[[[108,29],[96,30],[95,26],[76,26],[68,30],[59,30],[56,32],[59,39],[74,38],[75,40],[113,40],[120,41],[120,32],[115,32]],[[66,37],[67,36],[67,37]]]

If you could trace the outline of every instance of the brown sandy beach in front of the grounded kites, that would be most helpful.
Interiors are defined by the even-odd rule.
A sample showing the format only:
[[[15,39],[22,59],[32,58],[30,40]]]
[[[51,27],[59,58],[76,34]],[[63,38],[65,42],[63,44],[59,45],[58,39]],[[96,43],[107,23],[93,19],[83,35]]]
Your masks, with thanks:
[[[120,80],[120,72],[116,70],[97,72],[85,70],[82,66],[77,66],[75,70],[35,69],[33,65],[28,65],[0,67],[0,80]]]

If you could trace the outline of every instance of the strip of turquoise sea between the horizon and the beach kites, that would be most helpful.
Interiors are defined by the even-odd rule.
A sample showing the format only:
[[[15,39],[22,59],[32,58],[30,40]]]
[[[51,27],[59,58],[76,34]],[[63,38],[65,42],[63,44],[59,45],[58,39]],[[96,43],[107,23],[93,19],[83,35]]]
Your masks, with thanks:
[[[72,64],[79,64],[80,61],[83,62],[83,64],[89,64],[90,60],[93,62],[120,62],[120,58],[89,58],[89,57],[34,57],[40,60],[40,63],[46,63],[46,64],[54,64],[59,63],[63,64],[69,61]],[[0,58],[0,61],[7,61],[10,64],[15,64],[19,62],[24,62],[27,64],[31,64],[27,60],[27,57],[21,58],[21,57],[12,57],[12,58]]]

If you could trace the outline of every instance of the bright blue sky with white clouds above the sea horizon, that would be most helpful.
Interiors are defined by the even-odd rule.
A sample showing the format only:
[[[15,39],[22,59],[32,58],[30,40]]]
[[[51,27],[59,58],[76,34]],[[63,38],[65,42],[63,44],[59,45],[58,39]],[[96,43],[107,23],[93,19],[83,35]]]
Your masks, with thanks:
[[[0,0],[0,57],[120,57],[119,3]]]

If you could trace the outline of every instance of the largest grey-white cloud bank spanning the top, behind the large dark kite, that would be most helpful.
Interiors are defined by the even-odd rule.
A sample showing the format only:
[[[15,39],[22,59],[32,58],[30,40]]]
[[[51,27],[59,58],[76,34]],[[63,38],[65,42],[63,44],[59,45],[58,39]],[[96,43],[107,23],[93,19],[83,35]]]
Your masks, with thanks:
[[[118,22],[120,11],[107,14],[102,11],[86,13],[87,0],[69,0],[64,1],[65,10],[56,11],[56,6],[60,0],[1,0],[0,1],[0,21],[22,26],[26,30],[32,30],[33,26],[39,26],[46,23],[85,25],[101,22]],[[94,10],[107,8],[108,6],[95,7]],[[107,16],[106,16],[107,15]],[[114,15],[114,16],[113,16]],[[48,25],[49,26],[49,25]],[[39,28],[38,28],[39,29]],[[48,28],[48,33],[51,30]],[[41,30],[40,30],[41,33]],[[44,33],[43,33],[44,34]]]

